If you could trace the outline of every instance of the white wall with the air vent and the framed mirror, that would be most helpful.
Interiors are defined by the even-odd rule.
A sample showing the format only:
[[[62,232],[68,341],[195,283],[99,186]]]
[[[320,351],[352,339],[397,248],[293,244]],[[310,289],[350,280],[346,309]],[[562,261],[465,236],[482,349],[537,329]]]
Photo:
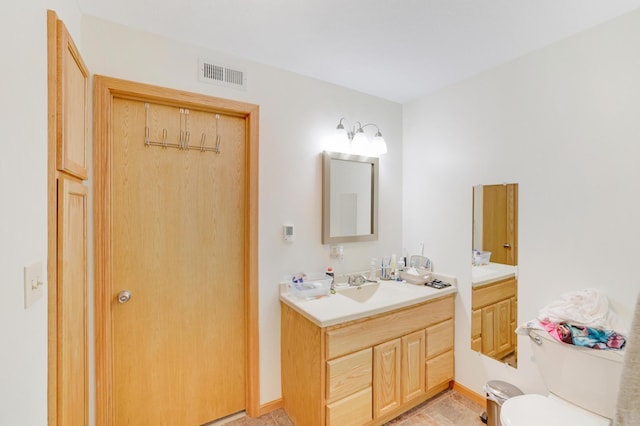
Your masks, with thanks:
[[[230,58],[205,48],[83,17],[81,51],[92,74],[187,90],[260,105],[260,401],[280,398],[280,307],[285,274],[366,270],[370,257],[402,250],[402,107],[296,74]],[[246,91],[200,83],[198,57],[239,66]],[[345,259],[329,259],[321,238],[321,152],[340,117],[374,122],[389,145],[380,160],[380,239],[345,244]],[[293,224],[296,240],[282,240]]]

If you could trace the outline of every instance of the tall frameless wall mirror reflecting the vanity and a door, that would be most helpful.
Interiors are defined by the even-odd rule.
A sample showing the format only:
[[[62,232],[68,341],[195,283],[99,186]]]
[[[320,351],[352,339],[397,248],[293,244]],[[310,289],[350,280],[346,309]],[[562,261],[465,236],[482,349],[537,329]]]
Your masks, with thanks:
[[[518,365],[518,184],[473,187],[471,349]]]

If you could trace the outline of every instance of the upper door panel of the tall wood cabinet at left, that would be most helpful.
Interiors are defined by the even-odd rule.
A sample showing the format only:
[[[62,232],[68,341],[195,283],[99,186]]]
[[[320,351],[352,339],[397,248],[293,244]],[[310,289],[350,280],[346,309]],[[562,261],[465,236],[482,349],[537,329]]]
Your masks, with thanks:
[[[87,179],[89,70],[62,21],[57,40],[57,168]]]

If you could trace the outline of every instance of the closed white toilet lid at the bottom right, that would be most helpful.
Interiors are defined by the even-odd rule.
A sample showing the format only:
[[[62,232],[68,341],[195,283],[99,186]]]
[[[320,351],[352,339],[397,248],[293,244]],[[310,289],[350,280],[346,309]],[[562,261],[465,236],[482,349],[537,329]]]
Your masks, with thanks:
[[[552,397],[522,395],[502,404],[500,421],[503,426],[608,426],[604,417]]]

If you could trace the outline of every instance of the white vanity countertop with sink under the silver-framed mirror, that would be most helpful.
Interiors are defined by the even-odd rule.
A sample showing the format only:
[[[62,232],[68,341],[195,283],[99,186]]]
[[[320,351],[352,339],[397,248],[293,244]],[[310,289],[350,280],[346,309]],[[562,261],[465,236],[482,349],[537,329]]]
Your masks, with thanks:
[[[404,308],[418,303],[437,299],[458,292],[455,277],[433,274],[435,278],[451,283],[450,287],[438,290],[424,285],[409,284],[398,281],[380,281],[377,291],[365,302],[358,302],[340,294],[344,289],[338,288],[336,294],[316,299],[302,300],[282,290],[280,300],[292,309],[309,319],[319,327],[341,324],[365,318],[371,315]],[[365,284],[363,287],[375,284]],[[354,289],[353,287],[351,289]]]

